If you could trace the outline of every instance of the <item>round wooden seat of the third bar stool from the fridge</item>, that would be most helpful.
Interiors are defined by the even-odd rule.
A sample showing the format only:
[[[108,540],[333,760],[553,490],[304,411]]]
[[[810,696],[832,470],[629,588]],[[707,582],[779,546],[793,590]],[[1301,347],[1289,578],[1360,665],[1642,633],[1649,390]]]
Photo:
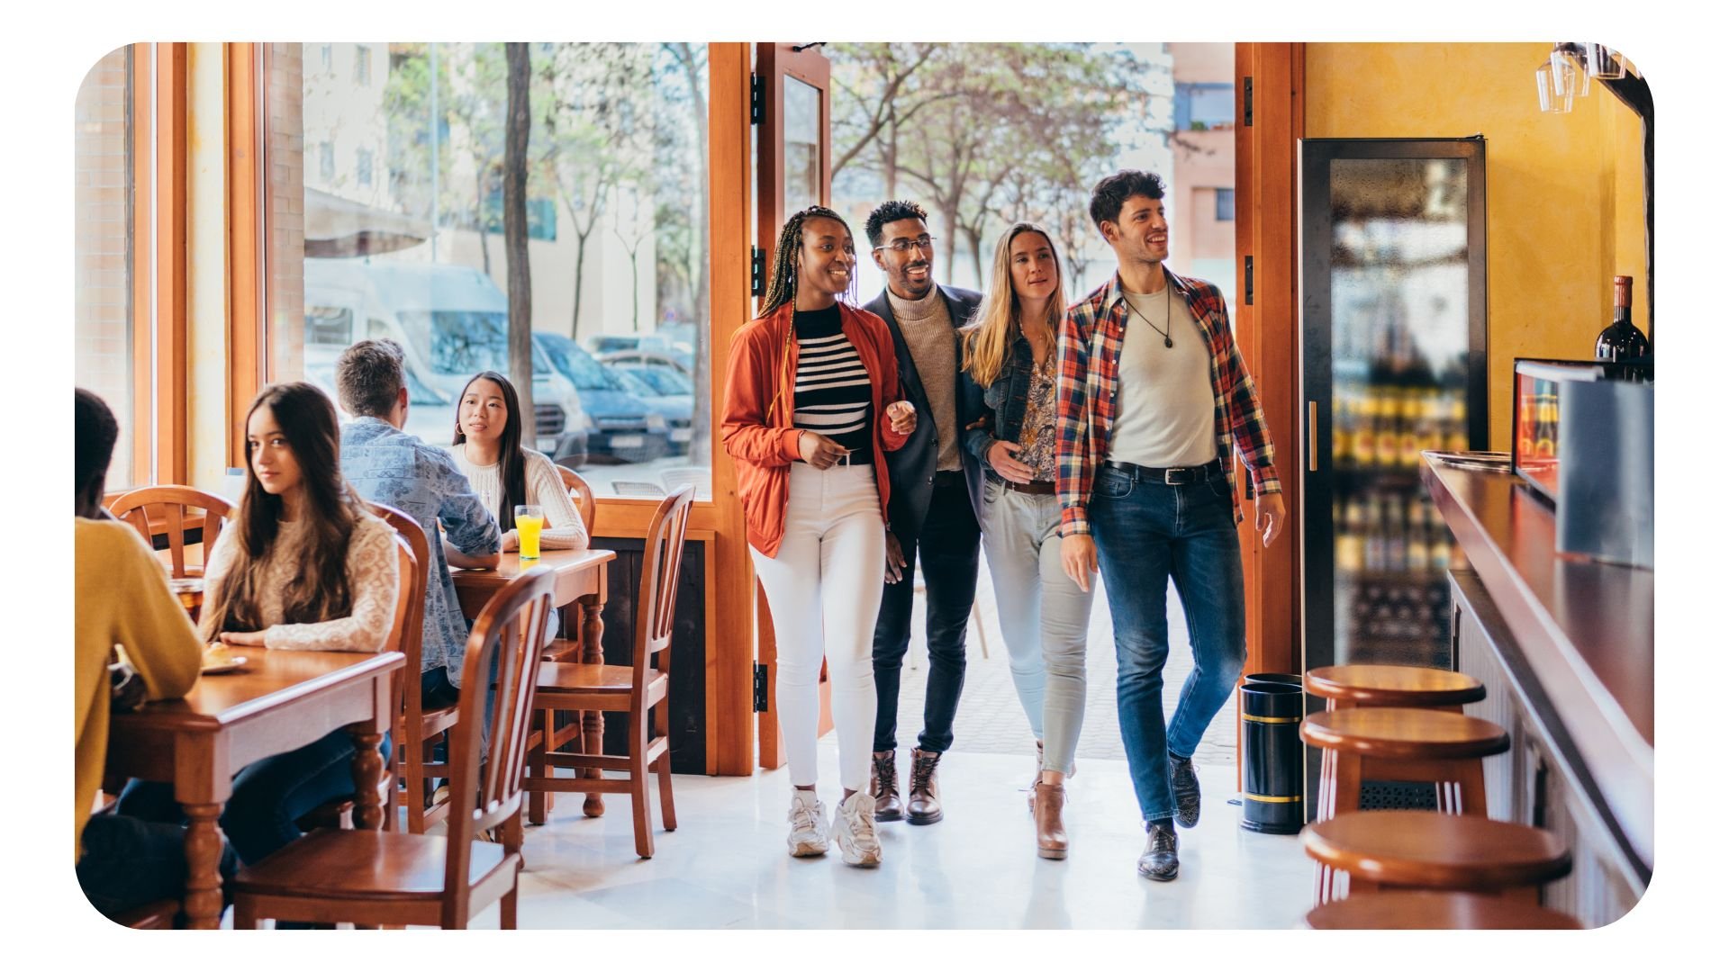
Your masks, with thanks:
[[[1573,868],[1566,844],[1547,830],[1423,809],[1342,813],[1311,823],[1302,847],[1352,877],[1440,891],[1537,886]]]

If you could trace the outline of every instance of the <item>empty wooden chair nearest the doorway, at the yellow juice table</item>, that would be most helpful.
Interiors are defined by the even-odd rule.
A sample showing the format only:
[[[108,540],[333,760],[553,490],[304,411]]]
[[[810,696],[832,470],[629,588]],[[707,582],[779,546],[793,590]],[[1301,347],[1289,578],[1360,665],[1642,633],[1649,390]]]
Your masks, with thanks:
[[[529,775],[524,789],[529,792],[602,792],[629,794],[636,828],[636,854],[654,856],[654,834],[648,820],[648,773],[660,777],[660,818],[667,830],[678,827],[673,813],[673,756],[667,739],[667,687],[671,678],[673,607],[678,600],[678,567],[685,552],[685,524],[690,519],[690,502],[695,491],[681,486],[660,500],[648,521],[643,541],[643,572],[636,595],[636,645],[631,664],[572,664],[548,662],[541,669],[534,690],[534,707],[543,711],[603,711],[628,713],[629,739],[626,756],[600,752],[553,752],[546,732],[531,740]],[[657,707],[654,735],[648,732],[648,709]],[[552,725],[552,719],[543,719]],[[555,777],[558,768],[616,770],[624,778]]]

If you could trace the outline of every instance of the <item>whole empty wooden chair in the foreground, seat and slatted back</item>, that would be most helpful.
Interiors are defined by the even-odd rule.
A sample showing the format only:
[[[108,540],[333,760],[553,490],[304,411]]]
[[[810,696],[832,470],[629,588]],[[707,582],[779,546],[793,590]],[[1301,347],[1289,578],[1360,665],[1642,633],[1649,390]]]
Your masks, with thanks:
[[[484,685],[498,657],[498,702],[481,754],[486,692],[463,692],[451,732],[451,792],[462,809],[446,837],[384,830],[318,830],[240,868],[233,880],[233,927],[259,918],[370,925],[467,927],[493,901],[498,924],[517,927],[522,866],[522,761],[529,704],[546,640],[553,572],[524,571],[493,595],[469,635],[463,685]],[[475,841],[498,828],[501,842]]]

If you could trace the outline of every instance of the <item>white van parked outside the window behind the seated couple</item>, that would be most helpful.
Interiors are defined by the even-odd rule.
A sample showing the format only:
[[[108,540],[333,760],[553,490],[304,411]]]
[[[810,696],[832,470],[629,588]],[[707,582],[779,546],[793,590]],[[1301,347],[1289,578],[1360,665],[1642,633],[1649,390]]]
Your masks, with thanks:
[[[493,280],[472,268],[401,259],[306,261],[308,379],[325,349],[341,353],[363,337],[391,337],[403,346],[410,380],[408,432],[448,446],[455,429],[455,401],[475,372],[510,374],[510,303]],[[546,355],[531,346],[534,361],[534,434],[524,444],[553,460],[581,464],[588,451],[586,427],[576,387],[553,370]],[[441,398],[417,408],[422,398]],[[424,417],[417,420],[417,412]],[[425,431],[422,422],[431,422]]]

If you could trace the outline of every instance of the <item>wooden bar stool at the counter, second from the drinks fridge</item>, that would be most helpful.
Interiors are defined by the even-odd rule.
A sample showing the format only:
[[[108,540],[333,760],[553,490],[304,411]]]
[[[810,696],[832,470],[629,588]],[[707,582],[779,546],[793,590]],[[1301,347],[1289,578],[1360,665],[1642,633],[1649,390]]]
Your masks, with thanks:
[[[1483,758],[1506,752],[1506,730],[1440,709],[1345,707],[1304,719],[1302,739],[1321,751],[1316,820],[1361,806],[1362,780],[1433,783],[1442,813],[1489,815]],[[1314,899],[1333,899],[1333,872],[1316,868]]]

